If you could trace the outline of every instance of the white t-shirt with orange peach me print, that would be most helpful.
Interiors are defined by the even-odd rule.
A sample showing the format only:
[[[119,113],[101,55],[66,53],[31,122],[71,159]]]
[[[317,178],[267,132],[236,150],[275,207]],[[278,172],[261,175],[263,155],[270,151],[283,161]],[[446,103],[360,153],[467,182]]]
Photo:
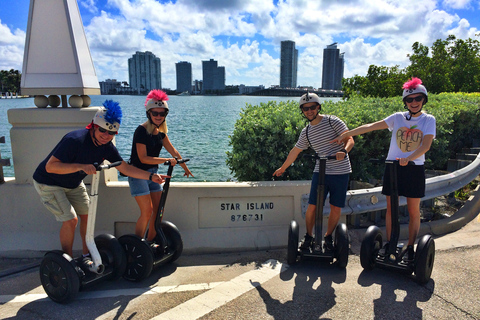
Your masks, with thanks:
[[[388,130],[392,131],[390,139],[390,148],[388,149],[387,160],[396,158],[406,158],[417,150],[423,143],[426,135],[436,135],[435,117],[422,113],[418,117],[412,117],[407,120],[406,112],[397,112],[383,119],[388,125]],[[414,160],[416,165],[425,163],[425,154]]]

